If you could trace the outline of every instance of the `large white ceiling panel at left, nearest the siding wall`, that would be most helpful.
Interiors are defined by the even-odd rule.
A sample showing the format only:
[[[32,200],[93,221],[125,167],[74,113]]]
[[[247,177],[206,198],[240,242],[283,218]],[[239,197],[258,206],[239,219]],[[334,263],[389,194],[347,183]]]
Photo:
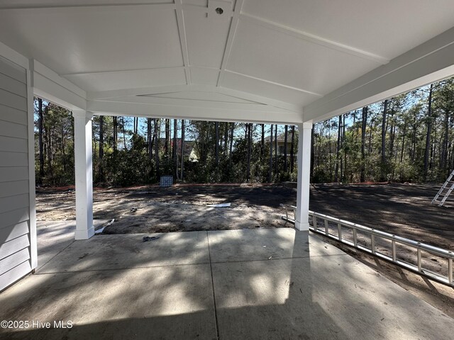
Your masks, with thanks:
[[[0,40],[59,74],[183,66],[175,10],[156,5],[3,10]]]

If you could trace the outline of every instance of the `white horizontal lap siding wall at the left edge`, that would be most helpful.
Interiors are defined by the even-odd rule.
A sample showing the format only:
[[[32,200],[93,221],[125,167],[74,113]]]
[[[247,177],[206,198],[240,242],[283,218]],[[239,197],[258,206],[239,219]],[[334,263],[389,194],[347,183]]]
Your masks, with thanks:
[[[30,273],[26,69],[0,57],[0,290]]]

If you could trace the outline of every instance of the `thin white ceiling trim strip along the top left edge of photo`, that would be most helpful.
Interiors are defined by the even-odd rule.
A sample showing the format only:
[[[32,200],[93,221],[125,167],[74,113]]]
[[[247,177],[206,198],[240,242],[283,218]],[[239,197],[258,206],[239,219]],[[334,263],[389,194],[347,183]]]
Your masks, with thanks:
[[[120,7],[120,6],[153,6],[153,10],[171,10],[175,9],[175,4],[159,4],[155,2],[141,1],[141,2],[118,2],[118,3],[95,3],[88,4],[80,1],[81,4],[37,4],[31,2],[30,4],[16,4],[11,1],[11,4],[0,4],[0,10],[13,10],[13,9],[49,9],[49,8],[84,8],[84,7]]]

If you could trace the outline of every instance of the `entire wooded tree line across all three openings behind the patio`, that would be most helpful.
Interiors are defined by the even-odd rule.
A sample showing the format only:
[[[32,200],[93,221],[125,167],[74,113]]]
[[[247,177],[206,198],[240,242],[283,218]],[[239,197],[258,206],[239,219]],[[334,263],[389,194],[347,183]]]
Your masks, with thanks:
[[[155,183],[161,175],[201,183],[296,180],[293,125],[95,116],[92,126],[96,185]],[[453,126],[453,79],[316,123],[311,181],[444,181],[454,168]],[[74,183],[70,111],[35,98],[35,135],[37,183]]]

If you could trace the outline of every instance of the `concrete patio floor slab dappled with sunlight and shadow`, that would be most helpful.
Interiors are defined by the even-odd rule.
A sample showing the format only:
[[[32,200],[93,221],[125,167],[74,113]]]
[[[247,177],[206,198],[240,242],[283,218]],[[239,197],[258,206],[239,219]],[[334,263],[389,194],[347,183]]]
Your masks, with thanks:
[[[294,229],[95,235],[47,225],[1,339],[452,339],[454,319]],[[74,223],[74,222],[72,222]],[[43,229],[43,225],[38,230]],[[39,234],[39,233],[38,233]],[[45,235],[45,237],[43,237]],[[50,329],[32,327],[50,322]],[[54,321],[72,322],[54,328]]]

